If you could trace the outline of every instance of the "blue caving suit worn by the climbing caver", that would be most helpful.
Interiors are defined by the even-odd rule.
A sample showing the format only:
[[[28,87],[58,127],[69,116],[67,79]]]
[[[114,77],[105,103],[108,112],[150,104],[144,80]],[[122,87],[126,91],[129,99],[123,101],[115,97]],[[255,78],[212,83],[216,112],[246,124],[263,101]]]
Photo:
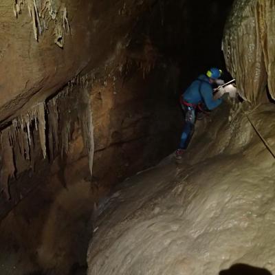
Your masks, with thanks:
[[[181,107],[184,109],[185,123],[179,148],[186,149],[190,142],[194,132],[198,104],[204,104],[208,110],[212,110],[218,107],[221,102],[221,98],[213,99],[213,88],[209,83],[208,76],[201,74],[199,78],[192,82],[181,96]]]

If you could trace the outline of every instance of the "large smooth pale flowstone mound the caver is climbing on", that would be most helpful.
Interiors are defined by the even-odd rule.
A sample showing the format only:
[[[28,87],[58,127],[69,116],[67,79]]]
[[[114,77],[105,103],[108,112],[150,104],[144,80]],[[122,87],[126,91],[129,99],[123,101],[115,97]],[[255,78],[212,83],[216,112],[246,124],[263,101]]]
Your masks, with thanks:
[[[274,147],[275,107],[231,122],[224,110],[200,122],[181,165],[168,157],[124,181],[96,224],[88,275],[213,275],[236,263],[275,272],[274,156],[247,118]]]

